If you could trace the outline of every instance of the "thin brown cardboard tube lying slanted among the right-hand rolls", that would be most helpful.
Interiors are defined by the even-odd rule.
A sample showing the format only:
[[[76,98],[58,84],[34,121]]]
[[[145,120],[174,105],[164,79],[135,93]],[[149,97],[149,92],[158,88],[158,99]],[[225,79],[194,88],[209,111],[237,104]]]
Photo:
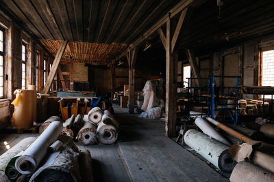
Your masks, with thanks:
[[[232,130],[230,127],[227,127],[226,125],[223,125],[219,121],[216,121],[215,119],[212,119],[211,117],[206,117],[210,123],[220,127],[222,130],[225,130],[225,132],[232,134],[232,136],[235,136],[236,138],[239,138],[243,142],[250,142],[252,141],[251,138],[248,138],[247,136],[240,134],[239,132],[236,132],[235,130]]]

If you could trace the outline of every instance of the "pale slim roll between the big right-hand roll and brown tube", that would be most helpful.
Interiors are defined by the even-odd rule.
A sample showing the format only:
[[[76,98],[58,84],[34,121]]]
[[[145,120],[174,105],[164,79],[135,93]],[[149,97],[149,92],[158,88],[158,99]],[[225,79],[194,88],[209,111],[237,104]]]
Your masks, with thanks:
[[[206,119],[197,117],[197,119],[195,119],[195,124],[203,131],[204,134],[211,136],[215,140],[217,140],[227,146],[231,146],[229,141],[227,141],[223,136],[221,136],[221,134],[219,134],[219,132],[214,130],[214,128],[210,125],[210,123],[208,123],[208,121],[206,121]]]

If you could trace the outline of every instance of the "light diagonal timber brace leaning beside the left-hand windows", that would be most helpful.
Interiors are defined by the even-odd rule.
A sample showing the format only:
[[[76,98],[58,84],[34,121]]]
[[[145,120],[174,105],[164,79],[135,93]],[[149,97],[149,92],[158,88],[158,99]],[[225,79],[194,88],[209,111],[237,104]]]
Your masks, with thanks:
[[[55,76],[55,73],[58,69],[59,63],[61,61],[62,55],[64,54],[64,50],[66,49],[66,44],[68,44],[68,41],[64,41],[60,44],[60,47],[55,55],[55,59],[53,61],[53,65],[51,67],[51,72],[49,72],[49,77],[47,79],[46,85],[43,89],[43,93],[48,93],[49,88],[51,87],[51,83],[53,81],[53,78]]]

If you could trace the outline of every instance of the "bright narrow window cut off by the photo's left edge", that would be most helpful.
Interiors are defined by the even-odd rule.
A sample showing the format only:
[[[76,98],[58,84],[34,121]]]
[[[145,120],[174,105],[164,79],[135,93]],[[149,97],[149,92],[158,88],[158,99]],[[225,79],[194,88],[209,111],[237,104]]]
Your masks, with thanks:
[[[4,32],[0,29],[0,98],[4,97]]]

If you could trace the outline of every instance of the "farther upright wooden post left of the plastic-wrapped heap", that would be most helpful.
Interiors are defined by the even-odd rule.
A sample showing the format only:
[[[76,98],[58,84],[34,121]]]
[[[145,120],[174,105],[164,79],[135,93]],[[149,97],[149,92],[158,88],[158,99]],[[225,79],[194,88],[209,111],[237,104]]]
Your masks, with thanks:
[[[137,48],[129,49],[127,60],[129,63],[129,114],[134,114],[134,84],[135,84],[135,63]]]

